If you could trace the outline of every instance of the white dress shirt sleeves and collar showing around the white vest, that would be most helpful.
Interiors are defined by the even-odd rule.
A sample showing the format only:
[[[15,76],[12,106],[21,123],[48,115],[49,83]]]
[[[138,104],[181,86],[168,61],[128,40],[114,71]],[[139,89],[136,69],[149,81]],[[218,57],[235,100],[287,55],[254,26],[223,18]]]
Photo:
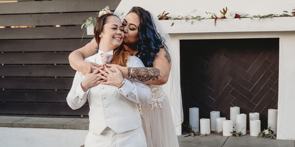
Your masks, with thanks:
[[[95,63],[101,64],[101,56],[99,55],[101,53],[104,52],[99,50],[97,54],[86,58],[85,61],[93,62],[95,60]],[[106,54],[113,55],[113,50],[106,52]],[[108,62],[111,60],[111,58],[112,56],[109,57]],[[126,65],[127,67],[145,67],[142,61],[136,56],[130,56],[130,58],[127,60]],[[76,72],[72,88],[67,96],[68,105],[72,109],[80,108],[87,100],[87,95],[90,88],[88,89],[88,91],[84,92],[80,85],[84,77],[85,76],[80,71]],[[128,100],[145,106],[150,103],[152,97],[149,84],[141,83],[138,81],[129,81],[127,79],[124,85],[120,89],[117,89],[117,91],[124,95],[125,98],[127,98]]]

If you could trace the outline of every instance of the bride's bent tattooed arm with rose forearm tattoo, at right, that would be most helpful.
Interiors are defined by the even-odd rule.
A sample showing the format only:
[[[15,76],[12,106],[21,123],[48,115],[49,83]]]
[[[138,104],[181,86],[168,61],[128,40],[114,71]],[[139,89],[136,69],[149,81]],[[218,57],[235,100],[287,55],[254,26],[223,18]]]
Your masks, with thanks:
[[[160,49],[153,61],[153,67],[122,67],[110,64],[112,71],[114,67],[118,67],[124,78],[140,81],[152,85],[163,85],[168,81],[171,57],[166,49]],[[131,72],[132,70],[132,72]]]

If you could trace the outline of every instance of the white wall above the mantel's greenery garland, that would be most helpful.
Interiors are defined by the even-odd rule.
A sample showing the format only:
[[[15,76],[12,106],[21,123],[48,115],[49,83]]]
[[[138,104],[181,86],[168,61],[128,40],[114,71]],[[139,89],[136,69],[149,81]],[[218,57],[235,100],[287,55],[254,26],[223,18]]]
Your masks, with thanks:
[[[128,12],[132,6],[140,6],[158,15],[163,11],[170,13],[168,16],[184,16],[196,9],[196,15],[207,16],[206,12],[219,13],[219,10],[227,7],[237,14],[282,14],[282,11],[291,11],[295,7],[294,0],[284,0],[282,2],[274,0],[122,0],[116,9],[116,14]],[[126,14],[126,13],[125,13]],[[194,15],[194,16],[196,16]],[[211,15],[210,15],[211,16]]]

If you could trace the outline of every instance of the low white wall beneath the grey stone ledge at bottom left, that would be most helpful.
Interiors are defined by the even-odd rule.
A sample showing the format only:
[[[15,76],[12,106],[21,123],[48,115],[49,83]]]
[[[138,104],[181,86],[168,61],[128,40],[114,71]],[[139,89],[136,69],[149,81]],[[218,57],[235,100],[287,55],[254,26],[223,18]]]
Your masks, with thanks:
[[[80,147],[88,130],[0,127],[1,147]]]

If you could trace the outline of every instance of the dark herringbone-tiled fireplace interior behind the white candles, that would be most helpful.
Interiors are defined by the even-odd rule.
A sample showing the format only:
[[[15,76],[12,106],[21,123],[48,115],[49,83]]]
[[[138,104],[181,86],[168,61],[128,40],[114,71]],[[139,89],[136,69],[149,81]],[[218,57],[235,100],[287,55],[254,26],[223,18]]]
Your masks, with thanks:
[[[199,108],[200,118],[220,111],[230,119],[230,107],[238,106],[247,129],[250,112],[260,113],[267,128],[268,109],[278,103],[278,38],[182,40],[180,46],[185,121],[190,107]]]

